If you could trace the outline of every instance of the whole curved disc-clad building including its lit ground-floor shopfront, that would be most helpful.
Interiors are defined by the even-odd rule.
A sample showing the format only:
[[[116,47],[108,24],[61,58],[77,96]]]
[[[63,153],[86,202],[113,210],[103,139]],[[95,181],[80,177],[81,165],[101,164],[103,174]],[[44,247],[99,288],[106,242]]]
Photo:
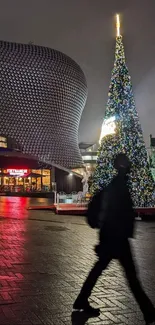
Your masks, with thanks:
[[[71,173],[83,165],[81,68],[61,52],[3,41],[0,64],[0,192],[81,190],[82,176]]]

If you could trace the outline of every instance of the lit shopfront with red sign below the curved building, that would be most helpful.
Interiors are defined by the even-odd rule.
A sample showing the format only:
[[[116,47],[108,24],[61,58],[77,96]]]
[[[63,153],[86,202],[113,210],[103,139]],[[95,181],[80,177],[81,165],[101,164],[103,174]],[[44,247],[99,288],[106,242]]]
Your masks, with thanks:
[[[0,169],[0,192],[49,192],[51,170]]]

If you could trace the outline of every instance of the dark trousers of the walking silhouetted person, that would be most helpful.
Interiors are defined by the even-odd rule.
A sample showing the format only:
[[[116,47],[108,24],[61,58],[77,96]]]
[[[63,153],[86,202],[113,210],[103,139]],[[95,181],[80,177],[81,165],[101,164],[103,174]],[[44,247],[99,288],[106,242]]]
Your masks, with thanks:
[[[99,260],[92,268],[81,289],[79,297],[83,301],[88,300],[89,296],[91,295],[91,291],[97,282],[97,279],[101,275],[102,271],[106,269],[112,258],[113,255],[111,250],[106,247],[105,252],[103,250],[102,256],[99,257]],[[141,311],[143,312],[144,316],[147,317],[149,313],[154,311],[154,306],[152,305],[152,302],[144,292],[137,277],[135,264],[132,258],[130,243],[128,240],[125,240],[122,243],[122,249],[120,250],[117,256],[117,259],[119,259],[121,265],[125,270],[130,289],[133,295],[135,296],[135,299],[137,300]]]

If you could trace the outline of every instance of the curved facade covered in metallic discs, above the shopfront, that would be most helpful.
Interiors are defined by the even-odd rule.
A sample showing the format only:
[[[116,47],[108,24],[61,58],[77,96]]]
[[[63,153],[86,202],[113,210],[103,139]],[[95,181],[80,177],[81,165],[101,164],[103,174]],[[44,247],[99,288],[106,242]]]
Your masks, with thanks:
[[[45,163],[81,165],[78,128],[87,99],[81,68],[65,54],[0,42],[0,133]]]

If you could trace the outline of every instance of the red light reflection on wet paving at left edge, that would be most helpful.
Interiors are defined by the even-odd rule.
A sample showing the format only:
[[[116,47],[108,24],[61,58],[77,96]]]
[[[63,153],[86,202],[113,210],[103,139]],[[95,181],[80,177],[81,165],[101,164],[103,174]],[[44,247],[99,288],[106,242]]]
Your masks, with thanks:
[[[6,217],[0,219],[0,305],[2,310],[0,323],[4,323],[3,317],[5,321],[5,313],[7,313],[7,317],[10,317],[8,324],[12,324],[11,317],[13,314],[16,323],[21,317],[18,310],[9,312],[5,306],[8,304],[14,306],[15,303],[23,301],[22,292],[25,286],[26,289],[28,288],[28,281],[26,282],[24,274],[30,264],[29,254],[25,248],[29,243],[27,221],[21,220],[23,218],[21,211],[24,211],[27,202],[25,198],[16,199],[5,198],[5,200],[0,200],[0,216]],[[24,218],[25,216],[26,214]]]

